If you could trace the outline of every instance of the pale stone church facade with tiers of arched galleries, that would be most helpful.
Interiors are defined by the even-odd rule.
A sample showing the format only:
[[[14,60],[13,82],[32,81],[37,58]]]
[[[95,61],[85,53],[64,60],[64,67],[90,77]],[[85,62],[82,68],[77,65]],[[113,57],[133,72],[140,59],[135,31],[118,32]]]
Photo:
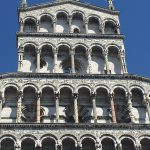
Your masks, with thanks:
[[[113,1],[18,9],[18,72],[0,74],[1,150],[149,150],[150,79],[127,71]]]

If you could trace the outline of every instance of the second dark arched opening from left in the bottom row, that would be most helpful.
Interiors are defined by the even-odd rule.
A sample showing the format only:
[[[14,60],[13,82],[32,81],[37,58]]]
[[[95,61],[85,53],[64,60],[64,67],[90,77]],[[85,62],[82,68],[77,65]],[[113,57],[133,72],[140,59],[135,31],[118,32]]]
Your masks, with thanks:
[[[21,150],[35,150],[35,142],[32,139],[25,139],[21,142]]]

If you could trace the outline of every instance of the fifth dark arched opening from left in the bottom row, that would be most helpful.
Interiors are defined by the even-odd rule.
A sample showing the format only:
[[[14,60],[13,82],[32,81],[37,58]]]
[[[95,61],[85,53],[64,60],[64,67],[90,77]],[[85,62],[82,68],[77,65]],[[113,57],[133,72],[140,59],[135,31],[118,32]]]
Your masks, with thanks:
[[[96,150],[95,142],[90,138],[84,139],[82,141],[82,150]]]

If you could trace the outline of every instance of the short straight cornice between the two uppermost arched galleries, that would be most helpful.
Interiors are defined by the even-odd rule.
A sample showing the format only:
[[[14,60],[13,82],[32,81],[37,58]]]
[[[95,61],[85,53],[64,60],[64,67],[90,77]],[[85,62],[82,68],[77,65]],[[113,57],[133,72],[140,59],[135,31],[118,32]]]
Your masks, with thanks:
[[[54,38],[97,38],[97,39],[122,39],[125,36],[122,34],[74,34],[74,33],[20,33],[18,37],[54,37]]]

